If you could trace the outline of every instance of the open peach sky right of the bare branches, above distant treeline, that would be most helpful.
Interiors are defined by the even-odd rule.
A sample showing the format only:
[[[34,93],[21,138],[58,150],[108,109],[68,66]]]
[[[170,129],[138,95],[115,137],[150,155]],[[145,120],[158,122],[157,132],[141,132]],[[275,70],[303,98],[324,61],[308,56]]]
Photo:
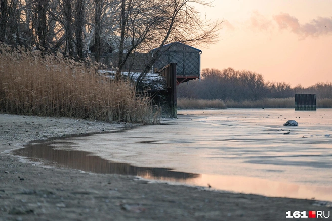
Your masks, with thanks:
[[[250,70],[266,81],[311,86],[332,81],[331,0],[215,0],[197,7],[224,21],[219,40],[199,48],[201,68]]]

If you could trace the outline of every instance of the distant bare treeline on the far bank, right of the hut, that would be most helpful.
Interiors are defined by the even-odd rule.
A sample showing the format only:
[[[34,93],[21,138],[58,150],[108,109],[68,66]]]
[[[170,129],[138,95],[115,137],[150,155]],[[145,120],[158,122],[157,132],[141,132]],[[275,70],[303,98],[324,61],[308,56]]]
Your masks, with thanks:
[[[227,68],[203,69],[201,82],[190,81],[178,86],[178,96],[208,100],[260,100],[264,98],[288,98],[296,93],[317,94],[318,99],[332,98],[332,83],[317,83],[310,87],[292,87],[285,82],[265,81],[262,74],[247,70]]]

